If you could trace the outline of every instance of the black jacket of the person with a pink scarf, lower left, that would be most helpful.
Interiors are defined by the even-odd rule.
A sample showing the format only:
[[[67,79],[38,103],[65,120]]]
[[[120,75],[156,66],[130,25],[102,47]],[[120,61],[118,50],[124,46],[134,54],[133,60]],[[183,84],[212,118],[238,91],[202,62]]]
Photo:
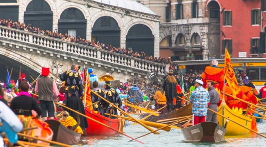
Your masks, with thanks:
[[[41,115],[41,109],[37,101],[25,95],[14,97],[10,104],[10,109],[16,115],[31,116],[31,110],[35,110],[38,116]]]

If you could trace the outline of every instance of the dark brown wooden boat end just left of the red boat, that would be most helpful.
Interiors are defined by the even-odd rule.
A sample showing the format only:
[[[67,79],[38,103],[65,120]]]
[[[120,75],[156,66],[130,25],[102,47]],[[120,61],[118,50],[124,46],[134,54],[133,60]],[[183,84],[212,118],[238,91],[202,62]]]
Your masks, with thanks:
[[[56,120],[46,120],[49,127],[53,131],[52,141],[63,143],[66,145],[75,145],[80,141],[81,134],[76,133],[66,127],[64,127],[60,122]]]

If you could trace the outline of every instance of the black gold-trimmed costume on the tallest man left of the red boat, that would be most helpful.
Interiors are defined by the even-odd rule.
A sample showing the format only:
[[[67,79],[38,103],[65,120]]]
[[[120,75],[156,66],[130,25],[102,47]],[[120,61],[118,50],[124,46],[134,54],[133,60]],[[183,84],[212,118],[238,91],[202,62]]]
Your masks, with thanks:
[[[60,74],[59,78],[61,79],[61,81],[65,81],[66,92],[68,90],[67,89],[68,86],[75,86],[77,92],[76,95],[78,97],[82,97],[83,85],[80,75],[78,74],[77,71],[67,70],[66,72]]]

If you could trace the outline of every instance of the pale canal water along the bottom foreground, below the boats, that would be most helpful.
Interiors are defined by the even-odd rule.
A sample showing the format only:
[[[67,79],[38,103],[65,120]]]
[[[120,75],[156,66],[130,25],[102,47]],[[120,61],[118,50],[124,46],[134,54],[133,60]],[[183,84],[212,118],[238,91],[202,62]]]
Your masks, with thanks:
[[[266,122],[258,123],[258,130],[259,133],[266,135]],[[134,138],[148,132],[148,130],[140,125],[133,126],[127,124],[124,127],[124,133]],[[263,147],[266,145],[266,138],[257,134],[237,137],[226,136],[226,142],[218,144],[192,144],[183,142],[184,137],[180,129],[171,129],[170,132],[159,131],[159,133],[160,135],[150,134],[138,139],[144,145],[135,141],[128,142],[130,140],[129,138],[116,135],[113,137],[84,137],[82,141],[84,142],[86,140],[87,144],[75,147]]]

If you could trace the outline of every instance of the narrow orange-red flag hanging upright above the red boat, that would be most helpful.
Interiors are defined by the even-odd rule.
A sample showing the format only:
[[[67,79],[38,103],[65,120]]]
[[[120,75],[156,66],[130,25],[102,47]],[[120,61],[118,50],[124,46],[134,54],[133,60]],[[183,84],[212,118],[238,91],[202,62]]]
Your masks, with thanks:
[[[83,95],[83,102],[84,102],[84,107],[91,105],[92,101],[91,101],[91,96],[90,96],[90,80],[89,80],[89,74],[88,72],[86,72],[86,85],[85,85],[85,89],[84,89],[84,95]],[[93,111],[93,107],[87,107],[89,108],[90,111]]]

